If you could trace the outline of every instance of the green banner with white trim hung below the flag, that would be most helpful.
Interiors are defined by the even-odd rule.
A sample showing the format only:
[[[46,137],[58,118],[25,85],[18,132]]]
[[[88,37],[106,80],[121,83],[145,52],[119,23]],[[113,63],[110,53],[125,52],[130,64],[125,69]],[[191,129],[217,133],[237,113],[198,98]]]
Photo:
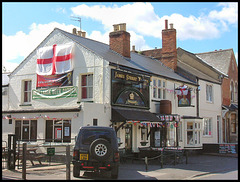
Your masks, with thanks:
[[[32,91],[32,99],[58,99],[77,97],[77,90],[78,88],[76,86],[37,89]]]

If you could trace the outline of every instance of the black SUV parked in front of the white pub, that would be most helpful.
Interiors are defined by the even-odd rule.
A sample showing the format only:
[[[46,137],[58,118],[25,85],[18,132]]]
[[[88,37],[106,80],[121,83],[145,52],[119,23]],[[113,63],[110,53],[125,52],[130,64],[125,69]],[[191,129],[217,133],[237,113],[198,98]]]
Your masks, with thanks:
[[[81,127],[73,152],[73,176],[80,170],[111,171],[111,178],[118,178],[119,152],[113,128],[100,126]]]

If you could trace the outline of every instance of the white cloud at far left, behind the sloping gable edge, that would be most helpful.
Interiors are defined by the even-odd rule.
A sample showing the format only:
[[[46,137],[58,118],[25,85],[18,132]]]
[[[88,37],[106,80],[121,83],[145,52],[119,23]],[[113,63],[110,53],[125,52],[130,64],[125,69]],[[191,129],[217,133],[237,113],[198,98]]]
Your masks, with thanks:
[[[2,34],[2,65],[5,66],[7,70],[13,71],[20,63],[13,63],[13,60],[19,59],[19,57],[26,58],[55,27],[71,32],[75,26],[57,22],[51,22],[49,24],[33,23],[29,27],[30,32],[28,34],[22,31],[11,36]]]

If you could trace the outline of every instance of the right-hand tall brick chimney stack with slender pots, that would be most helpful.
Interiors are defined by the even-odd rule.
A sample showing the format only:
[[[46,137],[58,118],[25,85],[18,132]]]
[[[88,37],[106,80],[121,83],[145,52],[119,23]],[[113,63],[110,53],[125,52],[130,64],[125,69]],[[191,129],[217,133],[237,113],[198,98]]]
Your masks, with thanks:
[[[174,71],[177,71],[177,40],[176,29],[170,24],[168,29],[168,20],[165,20],[165,29],[162,30],[162,59],[163,64]]]

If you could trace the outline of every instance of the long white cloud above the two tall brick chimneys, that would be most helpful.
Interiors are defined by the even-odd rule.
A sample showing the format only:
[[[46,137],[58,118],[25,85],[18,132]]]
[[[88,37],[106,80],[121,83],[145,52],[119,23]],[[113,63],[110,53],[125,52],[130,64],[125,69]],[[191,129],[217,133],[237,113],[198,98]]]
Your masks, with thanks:
[[[154,12],[151,3],[143,2],[123,6],[87,6],[82,4],[71,8],[71,10],[75,15],[101,22],[106,31],[111,31],[113,24],[126,23],[128,31],[154,38],[161,38],[164,21],[168,19],[169,23],[173,23],[177,29],[177,36],[180,40],[202,40],[219,37],[221,31],[227,30],[227,23],[237,22],[236,3],[220,3],[219,6],[223,6],[221,11],[212,11],[209,15],[202,13],[199,17],[192,15],[184,17],[180,14],[159,17]]]

